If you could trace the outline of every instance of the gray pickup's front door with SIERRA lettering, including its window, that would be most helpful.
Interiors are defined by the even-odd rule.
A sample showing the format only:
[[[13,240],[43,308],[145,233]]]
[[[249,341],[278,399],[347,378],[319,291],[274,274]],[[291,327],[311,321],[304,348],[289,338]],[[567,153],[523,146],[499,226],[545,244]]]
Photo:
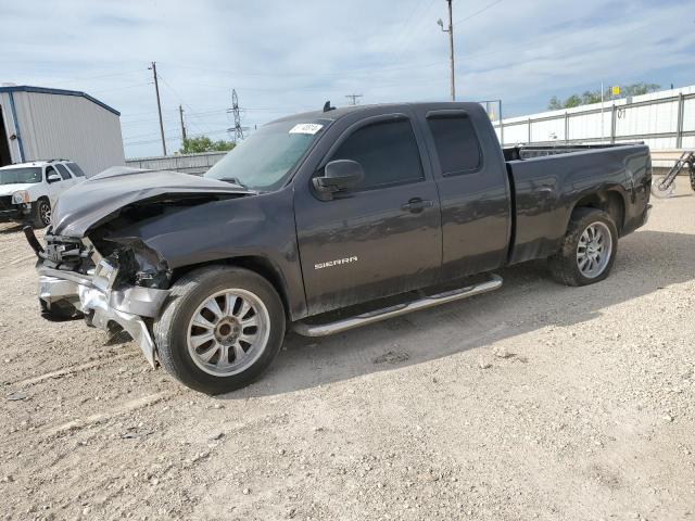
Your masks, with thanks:
[[[358,162],[365,179],[331,201],[311,187],[296,190],[309,314],[432,284],[442,254],[439,196],[409,118],[377,116],[351,127],[323,164],[333,160]]]

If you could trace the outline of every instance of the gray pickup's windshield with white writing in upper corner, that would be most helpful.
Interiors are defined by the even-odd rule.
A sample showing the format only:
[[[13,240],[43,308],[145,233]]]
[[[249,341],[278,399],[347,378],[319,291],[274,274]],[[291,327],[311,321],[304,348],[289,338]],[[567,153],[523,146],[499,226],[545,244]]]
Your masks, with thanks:
[[[265,125],[229,151],[205,177],[251,190],[277,190],[328,123],[328,119],[293,119]]]

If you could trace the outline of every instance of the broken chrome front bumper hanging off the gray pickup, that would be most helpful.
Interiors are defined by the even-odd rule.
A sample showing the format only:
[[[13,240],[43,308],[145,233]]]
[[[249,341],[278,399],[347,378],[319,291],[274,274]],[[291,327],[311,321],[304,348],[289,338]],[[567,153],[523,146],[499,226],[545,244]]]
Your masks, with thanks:
[[[103,267],[102,267],[103,268]],[[168,290],[129,287],[110,289],[109,278],[84,276],[73,271],[38,267],[39,298],[49,305],[65,301],[85,314],[94,327],[111,330],[121,326],[140,345],[144,357],[154,367],[155,345],[146,323],[160,313]],[[103,272],[97,269],[97,274]]]

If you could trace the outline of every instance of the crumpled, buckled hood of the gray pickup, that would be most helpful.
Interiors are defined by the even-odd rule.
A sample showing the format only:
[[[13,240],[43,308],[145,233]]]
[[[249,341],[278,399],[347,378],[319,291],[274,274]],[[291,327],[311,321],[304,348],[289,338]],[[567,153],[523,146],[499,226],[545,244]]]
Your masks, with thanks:
[[[53,208],[53,233],[84,237],[121,208],[166,195],[252,194],[238,185],[169,170],[113,167],[61,194]]]

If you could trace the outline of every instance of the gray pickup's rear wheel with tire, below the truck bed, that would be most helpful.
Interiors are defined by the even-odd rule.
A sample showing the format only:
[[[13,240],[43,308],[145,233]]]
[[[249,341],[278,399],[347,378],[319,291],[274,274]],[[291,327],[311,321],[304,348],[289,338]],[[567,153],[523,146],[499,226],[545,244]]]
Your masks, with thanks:
[[[563,284],[594,284],[608,277],[617,252],[618,229],[610,215],[596,208],[578,208],[559,251],[548,258],[548,267],[553,278]]]

